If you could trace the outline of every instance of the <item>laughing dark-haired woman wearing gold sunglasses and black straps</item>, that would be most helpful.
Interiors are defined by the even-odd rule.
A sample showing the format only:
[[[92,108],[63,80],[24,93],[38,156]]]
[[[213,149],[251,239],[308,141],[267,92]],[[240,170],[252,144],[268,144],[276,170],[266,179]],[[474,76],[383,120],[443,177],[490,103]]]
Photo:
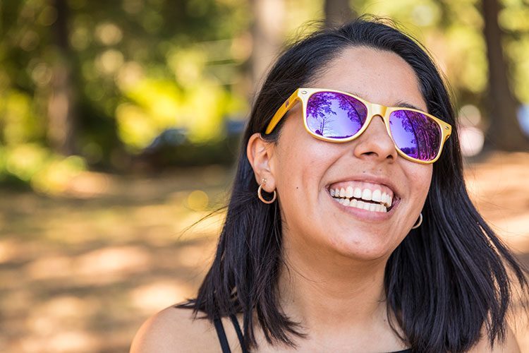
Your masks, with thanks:
[[[518,352],[507,271],[528,285],[468,198],[455,128],[399,30],[361,18],[294,44],[255,101],[197,298],[132,352]]]

